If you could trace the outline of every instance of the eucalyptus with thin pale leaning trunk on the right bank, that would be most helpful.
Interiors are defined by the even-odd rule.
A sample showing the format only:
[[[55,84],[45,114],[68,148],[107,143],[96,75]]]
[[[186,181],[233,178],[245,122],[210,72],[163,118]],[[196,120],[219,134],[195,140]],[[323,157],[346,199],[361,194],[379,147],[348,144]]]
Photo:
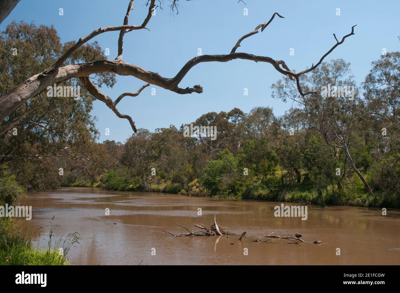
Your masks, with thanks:
[[[353,170],[366,191],[372,193],[350,153],[351,148],[362,147],[359,126],[365,119],[364,102],[356,88],[350,63],[342,59],[324,62],[312,73],[303,75],[300,84],[312,94],[298,94],[296,82],[283,78],[272,84],[273,96],[283,101],[292,100],[292,112],[306,118],[308,126],[318,135],[326,150],[330,150],[330,155],[337,161],[339,189],[342,189],[341,180],[346,179],[348,171]],[[347,165],[350,165],[349,169],[346,169]]]

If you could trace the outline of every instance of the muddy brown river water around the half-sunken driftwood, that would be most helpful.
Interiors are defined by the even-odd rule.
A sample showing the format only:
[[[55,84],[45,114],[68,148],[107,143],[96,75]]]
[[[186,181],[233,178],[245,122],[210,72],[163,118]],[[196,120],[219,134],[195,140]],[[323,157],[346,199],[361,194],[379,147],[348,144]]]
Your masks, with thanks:
[[[23,205],[32,206],[32,220],[18,224],[43,227],[35,245],[48,240],[53,216],[55,232],[77,231],[82,240],[68,253],[73,265],[399,265],[400,210],[308,205],[308,219],[275,217],[277,202],[188,197],[146,192],[105,191],[98,188],[62,188],[29,193]],[[284,203],[285,205],[289,203]],[[105,209],[110,215],[105,215]],[[198,208],[202,215],[198,215]],[[197,223],[214,219],[239,235],[171,237],[161,230],[187,233]],[[116,224],[114,224],[114,222]],[[271,232],[302,234],[305,243],[251,242]],[[39,236],[39,235],[38,235]],[[314,244],[314,241],[322,241]],[[230,244],[230,243],[234,244]],[[248,255],[244,255],[247,248]],[[336,255],[340,248],[340,255]],[[155,255],[152,251],[155,249]],[[154,253],[153,253],[154,254]]]

